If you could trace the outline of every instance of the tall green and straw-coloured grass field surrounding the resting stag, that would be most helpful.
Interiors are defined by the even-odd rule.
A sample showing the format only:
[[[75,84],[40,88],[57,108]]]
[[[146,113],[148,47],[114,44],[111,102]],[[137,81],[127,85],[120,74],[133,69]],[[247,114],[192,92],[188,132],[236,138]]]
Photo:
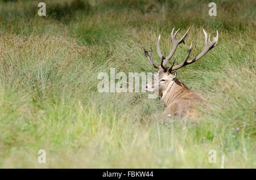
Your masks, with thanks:
[[[256,168],[256,2],[102,0],[0,1],[0,168]],[[99,72],[152,72],[143,49],[187,28],[176,51],[216,48],[177,78],[204,93],[200,118],[163,117],[147,93],[99,93]],[[193,123],[197,122],[197,123]],[[39,149],[46,164],[38,163]],[[208,161],[209,150],[217,163]],[[221,162],[222,161],[222,162]]]

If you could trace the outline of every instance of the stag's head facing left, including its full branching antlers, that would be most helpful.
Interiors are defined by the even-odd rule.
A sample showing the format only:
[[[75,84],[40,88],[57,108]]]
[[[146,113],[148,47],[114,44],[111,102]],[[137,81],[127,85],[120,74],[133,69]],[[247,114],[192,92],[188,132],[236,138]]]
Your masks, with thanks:
[[[155,68],[158,69],[158,77],[159,77],[159,81],[158,82],[159,82],[159,85],[158,85],[158,87],[156,85],[154,85],[154,87],[156,87],[158,89],[154,89],[153,88],[152,91],[158,90],[159,91],[159,96],[164,96],[164,94],[165,94],[164,92],[169,91],[171,89],[171,87],[172,87],[172,84],[175,83],[176,75],[177,75],[177,73],[174,72],[175,70],[178,70],[181,67],[184,67],[184,66],[187,66],[187,65],[189,65],[191,63],[196,62],[201,57],[203,57],[205,54],[207,54],[210,49],[214,48],[217,45],[218,31],[217,31],[217,36],[213,37],[213,40],[210,41],[210,35],[209,35],[209,38],[207,40],[207,33],[203,29],[204,36],[205,36],[205,42],[204,42],[204,49],[203,49],[203,51],[199,55],[197,55],[195,58],[193,58],[193,59],[188,61],[188,57],[189,57],[189,54],[191,53],[191,48],[192,48],[192,42],[191,42],[191,45],[190,45],[190,47],[188,49],[188,53],[185,56],[183,62],[180,63],[180,65],[174,66],[175,61],[176,61],[176,57],[175,57],[174,61],[172,61],[172,65],[170,67],[166,67],[167,62],[174,55],[175,50],[177,49],[177,46],[179,44],[181,44],[182,42],[185,44],[185,38],[187,37],[190,29],[191,29],[191,27],[188,29],[187,32],[185,32],[185,34],[183,35],[183,37],[180,38],[180,40],[176,40],[175,39],[179,29],[175,32],[175,34],[174,34],[174,29],[172,29],[172,32],[171,32],[172,50],[171,50],[170,54],[167,57],[164,57],[164,55],[161,53],[161,50],[160,50],[160,37],[161,36],[159,35],[159,37],[158,37],[158,44],[157,44],[157,52],[158,52],[159,58],[162,60],[160,66],[158,66],[155,63],[155,61],[153,60],[153,58],[152,58],[152,54],[151,54],[152,49],[150,48],[149,54],[144,49],[144,54],[147,57],[148,61],[151,63],[152,66],[154,66]],[[152,84],[154,84],[154,82]],[[147,87],[148,87],[148,85],[146,85],[146,87],[144,87],[144,90],[148,91]],[[148,92],[150,92],[150,91],[148,91]]]

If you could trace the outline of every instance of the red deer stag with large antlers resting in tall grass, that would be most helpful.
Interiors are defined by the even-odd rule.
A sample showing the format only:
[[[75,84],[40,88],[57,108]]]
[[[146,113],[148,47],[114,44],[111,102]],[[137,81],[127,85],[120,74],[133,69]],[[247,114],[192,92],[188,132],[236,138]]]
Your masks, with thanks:
[[[180,65],[174,66],[174,63],[176,61],[176,57],[175,57],[174,61],[172,62],[172,65],[170,67],[166,67],[168,60],[172,58],[172,55],[174,55],[174,52],[177,46],[182,42],[185,44],[184,40],[185,40],[185,37],[187,37],[190,29],[191,28],[189,28],[188,31],[185,32],[183,37],[181,37],[180,40],[178,41],[175,39],[175,37],[179,29],[175,32],[175,34],[174,34],[174,29],[172,29],[172,32],[171,32],[172,50],[167,57],[164,57],[163,54],[161,53],[160,35],[159,35],[157,52],[158,52],[159,58],[162,59],[160,66],[158,66],[152,58],[152,55],[151,55],[152,49],[150,48],[149,55],[148,55],[148,52],[144,49],[144,54],[147,57],[148,61],[151,63],[152,66],[154,66],[155,68],[158,68],[159,70],[158,71],[158,77],[159,77],[158,87],[157,85],[156,87],[154,85],[154,88],[150,90],[148,88],[148,85],[146,85],[144,89],[148,92],[150,91],[159,92],[159,96],[162,97],[161,101],[166,106],[166,110],[164,110],[163,115],[171,114],[179,118],[196,117],[198,115],[196,111],[196,104],[198,102],[203,103],[203,101],[199,96],[199,93],[193,92],[190,89],[188,89],[188,87],[185,84],[181,83],[180,80],[176,78],[177,73],[173,71],[196,62],[205,54],[207,54],[210,49],[214,48],[217,45],[217,41],[218,41],[218,31],[217,31],[217,36],[213,37],[213,40],[210,41],[210,35],[207,40],[207,33],[203,29],[204,36],[205,36],[203,51],[199,55],[197,55],[195,58],[191,59],[190,61],[187,61],[189,54],[191,53],[191,48],[192,48],[192,42],[191,42],[191,45],[188,49],[188,53],[184,58],[183,62],[180,63]],[[152,82],[152,84],[154,84],[154,82]]]

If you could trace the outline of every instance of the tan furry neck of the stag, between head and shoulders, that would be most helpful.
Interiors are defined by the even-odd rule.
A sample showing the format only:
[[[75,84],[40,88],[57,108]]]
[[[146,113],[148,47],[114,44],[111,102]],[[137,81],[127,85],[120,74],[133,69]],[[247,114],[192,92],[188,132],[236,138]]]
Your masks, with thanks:
[[[181,83],[180,80],[176,79],[175,81],[170,82],[167,89],[163,91],[161,102],[167,106],[174,101],[175,98],[181,96],[185,91],[189,91],[188,87]]]

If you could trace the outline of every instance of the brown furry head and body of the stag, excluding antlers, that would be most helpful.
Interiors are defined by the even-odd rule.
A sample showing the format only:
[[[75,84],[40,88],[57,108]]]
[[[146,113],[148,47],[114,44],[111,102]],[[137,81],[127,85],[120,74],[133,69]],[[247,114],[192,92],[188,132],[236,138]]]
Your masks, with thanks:
[[[166,109],[163,115],[172,115],[178,118],[197,117],[196,105],[203,103],[200,93],[196,93],[188,89],[188,87],[176,79],[176,72],[166,73],[159,70],[159,87],[154,91],[159,91]],[[153,82],[154,84],[155,82]],[[146,86],[146,91],[148,91]]]

